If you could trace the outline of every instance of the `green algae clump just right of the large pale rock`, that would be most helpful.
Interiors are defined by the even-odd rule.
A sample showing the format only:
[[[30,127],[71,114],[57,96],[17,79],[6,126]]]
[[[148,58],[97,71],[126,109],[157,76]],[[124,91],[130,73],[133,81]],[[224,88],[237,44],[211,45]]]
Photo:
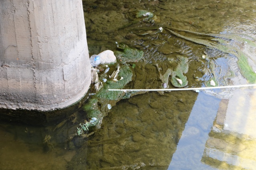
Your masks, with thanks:
[[[117,47],[120,51],[114,51],[114,54],[121,63],[138,62],[143,59],[143,51],[131,48],[124,43],[118,44]]]

